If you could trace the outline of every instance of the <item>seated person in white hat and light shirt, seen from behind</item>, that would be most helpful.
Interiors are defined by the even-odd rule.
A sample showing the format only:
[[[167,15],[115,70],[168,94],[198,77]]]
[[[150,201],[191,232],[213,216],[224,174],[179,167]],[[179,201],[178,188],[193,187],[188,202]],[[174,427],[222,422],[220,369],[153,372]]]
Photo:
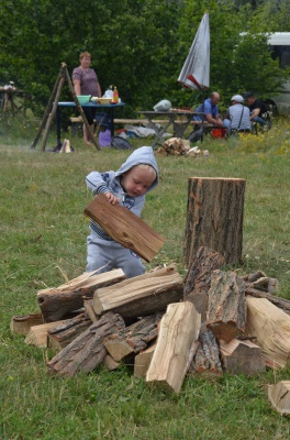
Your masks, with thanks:
[[[234,95],[232,106],[226,110],[224,127],[231,131],[250,132],[250,113],[248,107],[243,106],[242,95]]]

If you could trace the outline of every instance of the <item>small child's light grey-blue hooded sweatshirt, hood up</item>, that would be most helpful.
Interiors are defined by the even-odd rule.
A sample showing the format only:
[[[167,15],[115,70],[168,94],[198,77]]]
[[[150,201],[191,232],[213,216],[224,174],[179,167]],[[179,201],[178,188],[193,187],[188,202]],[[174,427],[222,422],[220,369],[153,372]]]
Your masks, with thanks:
[[[99,173],[99,172],[91,172],[86,177],[86,184],[89,189],[97,196],[100,193],[113,193],[118,198],[120,198],[120,205],[130,209],[136,216],[141,216],[144,202],[145,202],[145,195],[138,197],[131,197],[129,196],[120,184],[120,178],[123,173],[127,172],[129,169],[133,168],[133,166],[140,164],[147,164],[150,165],[156,172],[156,179],[148,187],[146,194],[154,189],[158,185],[158,167],[154,156],[153,148],[150,146],[141,146],[140,148],[135,150],[124,162],[118,172],[107,172],[107,173]],[[103,240],[112,240],[101,227],[90,221],[90,228],[93,232],[96,232],[100,239]]]

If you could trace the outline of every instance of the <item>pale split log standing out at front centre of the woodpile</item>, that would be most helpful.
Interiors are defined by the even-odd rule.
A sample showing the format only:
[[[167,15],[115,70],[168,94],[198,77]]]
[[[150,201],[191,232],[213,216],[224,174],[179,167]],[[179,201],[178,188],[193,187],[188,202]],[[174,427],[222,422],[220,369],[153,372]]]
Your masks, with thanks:
[[[149,369],[148,384],[160,384],[178,393],[194,354],[201,324],[200,314],[189,301],[170,304],[160,322],[160,332]]]

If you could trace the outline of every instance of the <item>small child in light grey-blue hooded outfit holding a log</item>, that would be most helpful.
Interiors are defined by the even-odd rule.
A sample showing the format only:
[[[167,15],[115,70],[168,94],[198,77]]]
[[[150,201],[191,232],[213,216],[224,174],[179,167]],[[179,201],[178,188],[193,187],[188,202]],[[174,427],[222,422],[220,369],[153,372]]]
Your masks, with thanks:
[[[94,195],[103,193],[108,202],[121,204],[140,217],[145,194],[158,184],[153,148],[142,146],[135,150],[118,172],[92,172],[86,177],[86,183]],[[145,267],[138,255],[112,240],[98,223],[90,221],[90,229],[87,238],[87,272],[122,268],[126,278],[144,274]]]

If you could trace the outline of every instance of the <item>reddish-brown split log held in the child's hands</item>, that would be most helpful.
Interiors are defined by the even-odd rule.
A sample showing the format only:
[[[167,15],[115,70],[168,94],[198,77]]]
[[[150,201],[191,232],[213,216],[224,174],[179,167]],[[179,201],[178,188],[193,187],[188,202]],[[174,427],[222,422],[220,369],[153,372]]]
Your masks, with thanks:
[[[103,194],[96,196],[83,212],[100,224],[113,240],[136,252],[147,262],[154,258],[166,241],[129,209],[121,205],[108,204]]]

